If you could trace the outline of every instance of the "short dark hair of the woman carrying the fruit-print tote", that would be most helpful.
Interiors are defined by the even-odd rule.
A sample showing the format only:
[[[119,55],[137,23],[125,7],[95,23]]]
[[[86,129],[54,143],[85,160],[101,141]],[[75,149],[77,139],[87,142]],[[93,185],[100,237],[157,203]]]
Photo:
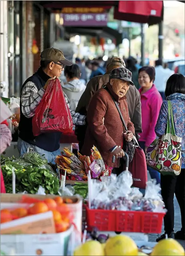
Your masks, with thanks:
[[[173,74],[166,82],[165,96],[173,93],[185,94],[185,77],[182,74]]]

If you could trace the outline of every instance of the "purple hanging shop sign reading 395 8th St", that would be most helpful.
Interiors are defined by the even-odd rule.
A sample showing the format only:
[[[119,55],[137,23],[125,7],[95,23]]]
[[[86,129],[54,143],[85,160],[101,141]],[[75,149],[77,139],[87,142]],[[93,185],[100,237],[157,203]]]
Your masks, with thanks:
[[[73,27],[94,27],[107,26],[107,13],[88,13],[88,14],[62,14],[64,26]]]

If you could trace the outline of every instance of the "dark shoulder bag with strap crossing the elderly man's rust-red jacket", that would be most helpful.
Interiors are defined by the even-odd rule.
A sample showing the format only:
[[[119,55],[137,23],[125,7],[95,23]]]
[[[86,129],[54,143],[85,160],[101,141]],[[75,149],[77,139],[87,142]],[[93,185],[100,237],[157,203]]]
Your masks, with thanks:
[[[106,91],[108,91],[108,93],[110,94],[110,91],[109,91],[109,89],[108,89],[106,86],[104,86],[103,88],[104,88]],[[110,96],[112,97],[111,94],[110,94]],[[122,123],[123,123],[124,129],[125,129],[126,133],[128,133],[128,129],[127,129],[127,126],[126,126],[126,124],[125,124],[124,118],[123,118],[122,113],[121,113],[121,110],[120,110],[120,108],[119,108],[119,105],[118,105],[117,101],[114,100],[113,97],[112,97],[112,99],[113,99],[113,101],[114,101],[114,103],[115,103],[115,106],[116,106],[118,112],[119,112],[119,115],[120,115],[121,121],[122,121]],[[134,153],[135,153],[135,141],[134,141],[134,139],[133,139],[132,141],[126,141],[126,140],[124,139],[124,144],[123,144],[123,146],[124,146],[124,149],[123,149],[123,150],[127,153],[127,155],[129,156],[129,162],[131,162],[132,159],[133,159],[133,157],[134,157]]]

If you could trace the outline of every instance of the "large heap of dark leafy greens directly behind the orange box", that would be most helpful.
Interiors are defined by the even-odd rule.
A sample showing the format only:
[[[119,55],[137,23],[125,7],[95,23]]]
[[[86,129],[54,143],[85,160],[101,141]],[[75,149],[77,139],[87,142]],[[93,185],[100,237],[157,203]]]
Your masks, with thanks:
[[[58,194],[59,180],[47,169],[38,167],[24,167],[15,162],[5,162],[2,173],[7,193],[12,193],[12,170],[15,172],[15,192],[27,191],[35,194],[39,186],[45,189],[46,194]]]

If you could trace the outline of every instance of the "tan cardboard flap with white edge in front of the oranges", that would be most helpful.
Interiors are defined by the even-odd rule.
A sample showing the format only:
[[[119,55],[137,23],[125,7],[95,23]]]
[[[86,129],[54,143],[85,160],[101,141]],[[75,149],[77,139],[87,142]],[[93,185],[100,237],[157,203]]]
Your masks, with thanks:
[[[55,234],[52,211],[20,218],[0,225],[3,234]]]

